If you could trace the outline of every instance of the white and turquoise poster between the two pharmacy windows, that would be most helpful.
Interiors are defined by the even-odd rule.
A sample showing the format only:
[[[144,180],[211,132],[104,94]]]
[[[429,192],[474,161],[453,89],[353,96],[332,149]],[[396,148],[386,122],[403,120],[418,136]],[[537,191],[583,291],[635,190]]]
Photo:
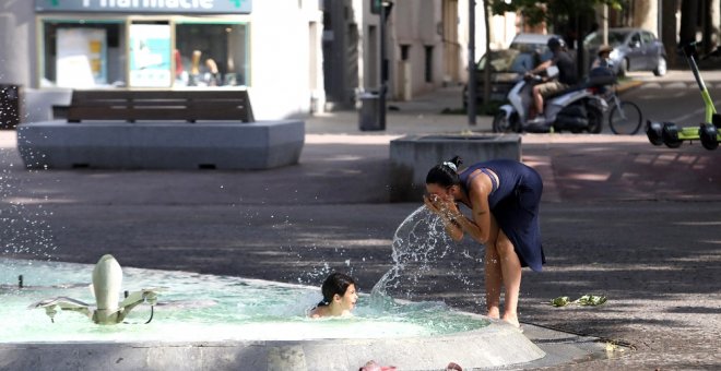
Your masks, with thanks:
[[[170,25],[130,25],[130,86],[169,87]]]

